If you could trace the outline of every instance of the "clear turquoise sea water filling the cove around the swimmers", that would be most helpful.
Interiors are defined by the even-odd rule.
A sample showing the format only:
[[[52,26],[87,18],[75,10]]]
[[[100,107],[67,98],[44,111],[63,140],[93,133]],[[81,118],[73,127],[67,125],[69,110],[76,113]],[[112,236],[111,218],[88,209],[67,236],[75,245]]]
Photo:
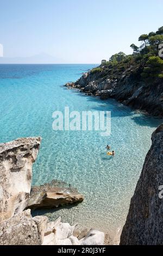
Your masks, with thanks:
[[[115,234],[129,208],[151,134],[161,120],[131,111],[115,100],[101,101],[62,87],[95,65],[0,65],[0,142],[41,136],[33,184],[58,179],[85,195],[82,204],[46,213],[54,220]],[[97,131],[53,131],[52,113],[111,111],[111,136]],[[116,156],[107,157],[106,144]],[[39,213],[39,212],[38,212]]]

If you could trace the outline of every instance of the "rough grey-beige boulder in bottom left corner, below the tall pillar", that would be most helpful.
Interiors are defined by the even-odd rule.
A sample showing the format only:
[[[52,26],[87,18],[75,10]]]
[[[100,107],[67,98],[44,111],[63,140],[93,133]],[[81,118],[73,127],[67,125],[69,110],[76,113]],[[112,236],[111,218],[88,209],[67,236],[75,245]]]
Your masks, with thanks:
[[[41,245],[46,223],[47,217],[38,217],[36,221],[30,210],[23,211],[1,223],[0,245]]]

